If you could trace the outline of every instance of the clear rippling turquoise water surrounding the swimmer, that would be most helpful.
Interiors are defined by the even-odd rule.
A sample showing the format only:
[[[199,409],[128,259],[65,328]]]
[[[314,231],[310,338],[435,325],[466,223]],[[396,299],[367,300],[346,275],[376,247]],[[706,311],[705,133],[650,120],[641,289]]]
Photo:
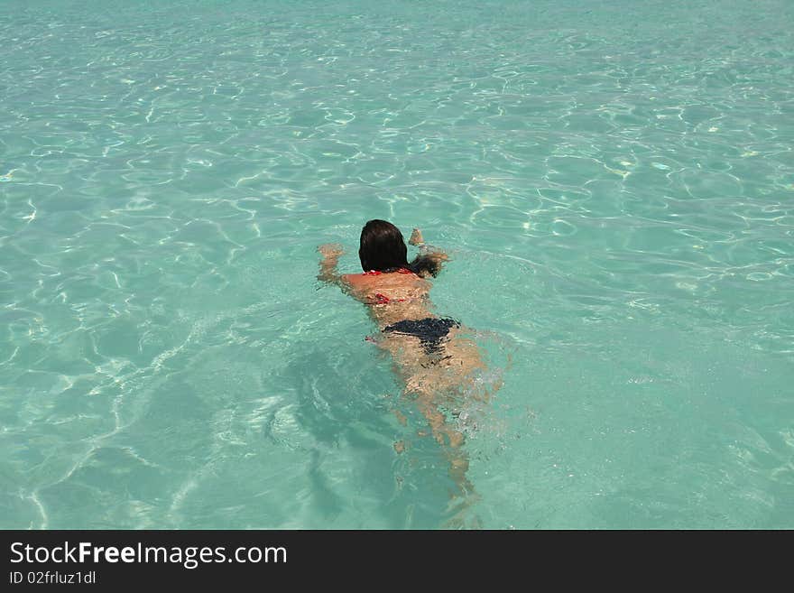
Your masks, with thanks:
[[[791,3],[6,1],[0,40],[0,526],[444,524],[314,279],[368,218],[451,250],[503,369],[470,518],[794,526]]]

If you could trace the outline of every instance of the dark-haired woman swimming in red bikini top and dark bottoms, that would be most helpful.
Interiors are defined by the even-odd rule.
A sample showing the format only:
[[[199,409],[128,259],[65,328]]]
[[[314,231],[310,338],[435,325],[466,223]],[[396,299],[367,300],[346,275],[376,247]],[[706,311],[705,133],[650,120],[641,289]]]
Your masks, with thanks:
[[[468,459],[461,449],[463,434],[449,423],[443,410],[455,416],[466,398],[487,398],[485,390],[473,388],[475,373],[485,369],[485,364],[460,323],[432,310],[429,278],[439,274],[448,255],[427,246],[417,228],[409,243],[420,251],[411,263],[400,229],[385,220],[370,220],[361,231],[358,249],[364,272],[337,273],[344,251],[338,244],[327,244],[319,246],[323,259],[318,278],[337,284],[367,305],[380,329],[376,337],[367,339],[392,355],[404,394],[415,400],[447,452],[450,476],[464,495],[473,494],[466,478]],[[398,452],[402,448],[402,441],[395,444]]]

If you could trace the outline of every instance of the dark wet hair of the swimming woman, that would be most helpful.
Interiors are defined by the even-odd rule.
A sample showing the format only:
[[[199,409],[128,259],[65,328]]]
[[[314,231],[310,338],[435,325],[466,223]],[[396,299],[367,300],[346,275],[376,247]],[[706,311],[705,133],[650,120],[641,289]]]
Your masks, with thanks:
[[[439,262],[428,255],[417,255],[411,264],[407,257],[405,239],[400,229],[391,222],[370,220],[361,229],[358,258],[365,272],[396,272],[400,268],[407,268],[420,276],[436,276],[439,273]]]

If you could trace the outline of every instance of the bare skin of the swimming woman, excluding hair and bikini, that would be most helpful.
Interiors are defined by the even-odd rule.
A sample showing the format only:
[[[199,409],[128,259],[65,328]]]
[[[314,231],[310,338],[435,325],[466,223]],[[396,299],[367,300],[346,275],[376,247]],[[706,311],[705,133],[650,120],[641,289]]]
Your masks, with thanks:
[[[418,229],[414,229],[409,243],[421,245],[423,253],[437,258],[439,263],[448,260],[444,252],[423,246]],[[433,436],[447,452],[450,476],[464,494],[474,494],[474,488],[466,478],[468,459],[461,449],[464,436],[448,423],[447,416],[442,412],[444,408],[459,408],[464,397],[488,398],[489,394],[485,390],[472,388],[475,372],[485,369],[474,341],[466,338],[464,328],[452,328],[447,338],[441,340],[439,350],[429,354],[421,346],[420,338],[383,332],[383,329],[401,320],[439,317],[433,312],[429,300],[432,286],[429,279],[401,272],[339,274],[337,262],[344,253],[342,247],[327,244],[320,246],[319,252],[323,255],[319,280],[336,283],[356,300],[368,305],[370,316],[381,330],[373,341],[391,354],[395,371],[405,385],[403,394],[416,402],[429,422]],[[395,449],[402,452],[405,444],[402,441],[395,443]]]

